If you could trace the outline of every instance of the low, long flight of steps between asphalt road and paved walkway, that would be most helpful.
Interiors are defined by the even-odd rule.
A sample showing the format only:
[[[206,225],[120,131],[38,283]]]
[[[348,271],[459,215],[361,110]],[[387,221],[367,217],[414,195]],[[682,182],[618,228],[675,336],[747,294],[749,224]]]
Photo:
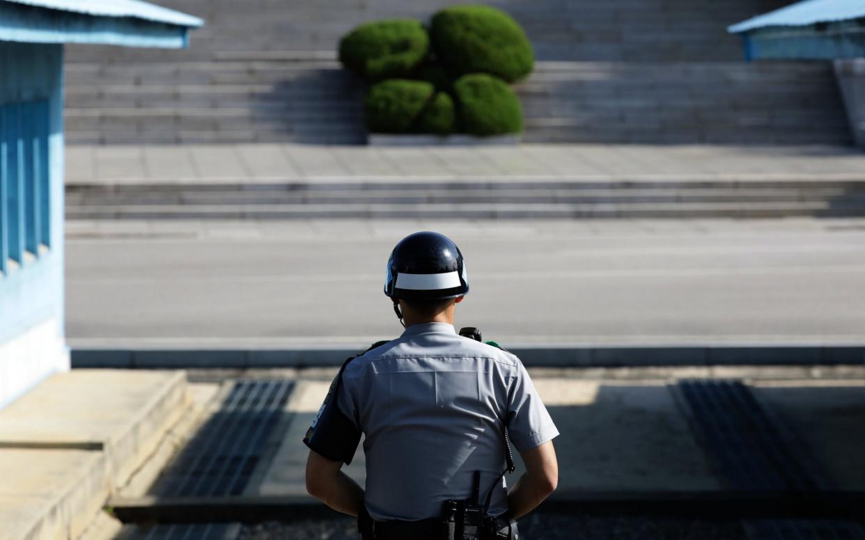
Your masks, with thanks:
[[[67,187],[69,219],[865,216],[861,181],[288,181]]]

